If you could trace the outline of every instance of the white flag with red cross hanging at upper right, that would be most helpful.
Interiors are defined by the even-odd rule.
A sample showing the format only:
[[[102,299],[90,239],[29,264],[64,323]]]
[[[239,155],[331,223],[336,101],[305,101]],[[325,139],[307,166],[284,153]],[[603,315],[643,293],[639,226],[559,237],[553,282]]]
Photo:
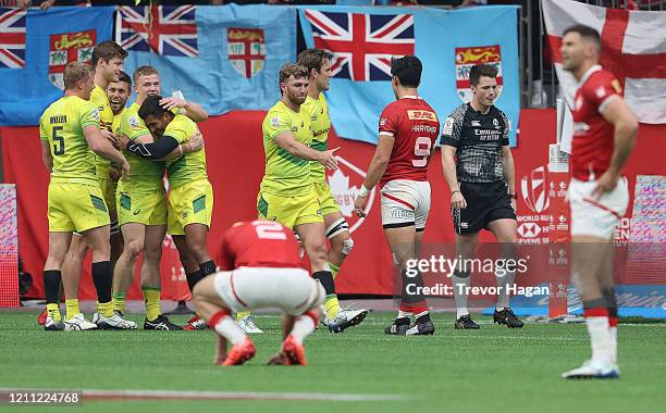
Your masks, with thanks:
[[[666,123],[666,12],[605,9],[570,0],[542,0],[542,5],[555,71],[569,108],[578,85],[562,67],[559,47],[567,27],[584,24],[600,33],[601,64],[618,78],[638,120]]]

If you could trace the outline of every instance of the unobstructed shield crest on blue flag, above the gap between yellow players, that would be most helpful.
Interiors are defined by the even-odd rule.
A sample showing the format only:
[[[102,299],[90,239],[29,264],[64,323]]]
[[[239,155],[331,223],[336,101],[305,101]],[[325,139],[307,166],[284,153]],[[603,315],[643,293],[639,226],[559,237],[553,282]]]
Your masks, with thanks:
[[[266,62],[263,29],[230,27],[226,39],[229,61],[236,72],[248,79],[261,72]]]

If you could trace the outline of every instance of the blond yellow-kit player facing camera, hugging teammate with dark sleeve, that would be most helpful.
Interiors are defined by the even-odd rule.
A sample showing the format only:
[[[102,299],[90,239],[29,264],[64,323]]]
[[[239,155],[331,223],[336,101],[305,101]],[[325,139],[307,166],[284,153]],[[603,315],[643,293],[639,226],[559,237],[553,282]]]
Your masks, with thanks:
[[[136,143],[150,143],[153,141],[150,130],[138,111],[146,98],[158,96],[161,92],[158,71],[152,66],[140,66],[134,72],[134,90],[136,100],[127,108],[121,118],[116,135],[121,140],[128,139]],[[166,98],[160,101],[163,108],[180,111],[194,121],[203,121],[208,114],[196,104],[182,99]],[[197,145],[198,142],[198,145]],[[183,152],[198,150],[202,146],[202,138],[195,136],[188,142],[175,149]],[[123,145],[125,147],[126,145]],[[122,313],[125,306],[125,295],[134,280],[134,268],[138,255],[144,252],[140,270],[141,291],[146,303],[145,329],[173,330],[181,329],[161,314],[160,296],[160,259],[162,256],[162,242],[166,234],[166,192],[162,177],[164,162],[146,160],[132,153],[126,153],[132,165],[132,174],[123,177],[118,186],[118,211],[121,230],[125,240],[125,248],[118,260],[113,277],[113,308]],[[185,253],[181,260],[187,262],[185,267],[190,283],[194,277],[200,278],[198,263]],[[194,263],[193,263],[194,262]],[[203,323],[200,323],[205,326]]]

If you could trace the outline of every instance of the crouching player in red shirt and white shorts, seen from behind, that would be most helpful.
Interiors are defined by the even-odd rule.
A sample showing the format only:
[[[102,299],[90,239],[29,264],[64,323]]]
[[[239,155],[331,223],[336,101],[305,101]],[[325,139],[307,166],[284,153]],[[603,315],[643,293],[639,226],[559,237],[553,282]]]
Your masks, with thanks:
[[[199,281],[193,295],[197,312],[218,333],[213,362],[238,365],[256,353],[231,312],[276,306],[284,313],[284,342],[269,363],[306,364],[303,340],[317,326],[325,291],[300,267],[296,237],[291,229],[270,221],[237,223],[223,237],[222,272]],[[229,353],[227,340],[232,345]]]

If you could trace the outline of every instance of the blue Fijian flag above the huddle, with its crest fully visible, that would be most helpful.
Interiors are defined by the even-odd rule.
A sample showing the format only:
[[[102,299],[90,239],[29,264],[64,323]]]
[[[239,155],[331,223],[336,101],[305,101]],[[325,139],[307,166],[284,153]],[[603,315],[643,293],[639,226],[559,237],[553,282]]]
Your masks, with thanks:
[[[141,33],[148,27],[151,36]],[[130,75],[149,64],[162,93],[181,90],[209,114],[268,109],[280,99],[280,66],[296,59],[296,10],[272,5],[120,8],[115,40]]]

